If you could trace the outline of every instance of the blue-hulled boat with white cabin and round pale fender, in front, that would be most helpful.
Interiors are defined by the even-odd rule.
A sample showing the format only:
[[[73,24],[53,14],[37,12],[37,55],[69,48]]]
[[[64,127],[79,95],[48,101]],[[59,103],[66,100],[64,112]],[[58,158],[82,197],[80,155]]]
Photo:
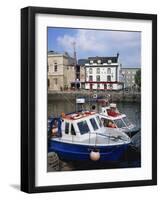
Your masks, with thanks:
[[[81,111],[48,119],[48,151],[68,161],[118,161],[131,139],[103,126],[99,114]]]

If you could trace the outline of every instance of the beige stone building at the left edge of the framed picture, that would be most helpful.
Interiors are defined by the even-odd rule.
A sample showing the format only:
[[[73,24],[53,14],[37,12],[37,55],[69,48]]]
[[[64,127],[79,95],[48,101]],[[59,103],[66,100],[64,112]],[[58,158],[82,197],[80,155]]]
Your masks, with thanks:
[[[75,59],[68,53],[48,52],[48,89],[64,90],[75,80]]]

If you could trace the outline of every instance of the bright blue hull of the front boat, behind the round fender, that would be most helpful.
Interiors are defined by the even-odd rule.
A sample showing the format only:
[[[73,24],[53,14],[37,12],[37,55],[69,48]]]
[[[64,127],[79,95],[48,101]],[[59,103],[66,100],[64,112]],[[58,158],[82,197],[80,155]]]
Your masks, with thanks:
[[[127,150],[128,146],[129,143],[111,146],[97,146],[96,148],[100,152],[99,161],[118,161]],[[94,149],[95,147],[93,145],[72,144],[56,140],[51,140],[48,144],[49,152],[54,151],[58,154],[60,159],[69,161],[89,161],[91,160],[90,153]]]

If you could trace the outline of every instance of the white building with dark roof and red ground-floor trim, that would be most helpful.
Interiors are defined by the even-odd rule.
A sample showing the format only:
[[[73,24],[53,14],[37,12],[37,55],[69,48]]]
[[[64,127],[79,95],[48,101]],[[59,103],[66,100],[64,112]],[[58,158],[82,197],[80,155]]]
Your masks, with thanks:
[[[120,90],[119,54],[115,57],[89,57],[85,63],[85,89]]]

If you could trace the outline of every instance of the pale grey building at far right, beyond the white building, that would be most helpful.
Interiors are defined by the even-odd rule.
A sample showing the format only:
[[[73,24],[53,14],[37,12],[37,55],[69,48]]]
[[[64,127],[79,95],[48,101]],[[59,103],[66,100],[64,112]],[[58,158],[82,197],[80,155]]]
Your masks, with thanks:
[[[124,82],[124,88],[129,88],[132,89],[133,87],[136,86],[135,84],[135,75],[136,72],[140,68],[121,68],[121,75],[122,75],[122,80]]]

